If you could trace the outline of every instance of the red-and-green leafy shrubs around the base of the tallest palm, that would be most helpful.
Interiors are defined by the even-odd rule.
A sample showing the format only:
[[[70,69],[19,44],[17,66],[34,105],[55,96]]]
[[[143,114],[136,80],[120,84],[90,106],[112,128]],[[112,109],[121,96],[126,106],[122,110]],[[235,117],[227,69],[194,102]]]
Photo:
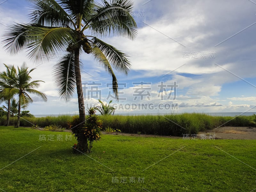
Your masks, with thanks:
[[[78,144],[74,144],[73,153],[90,153],[92,151],[93,141],[100,140],[102,129],[102,121],[99,120],[99,117],[95,114],[95,108],[88,109],[88,116],[86,117],[86,122],[84,124],[84,137],[87,142],[89,141],[89,148],[79,148],[79,116],[74,116],[72,122],[70,123],[71,133],[76,137]]]

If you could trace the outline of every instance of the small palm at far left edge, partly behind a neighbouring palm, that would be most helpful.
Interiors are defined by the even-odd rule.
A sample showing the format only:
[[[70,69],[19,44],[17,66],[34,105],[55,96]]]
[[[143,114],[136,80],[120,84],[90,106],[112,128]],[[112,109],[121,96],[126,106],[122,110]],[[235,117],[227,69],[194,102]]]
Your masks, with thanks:
[[[7,119],[5,126],[9,126],[10,123],[10,113],[11,113],[11,99],[13,97],[10,92],[5,92],[4,94],[4,88],[12,88],[12,85],[14,84],[16,80],[16,68],[14,65],[8,66],[5,65],[6,71],[0,73],[0,103],[1,101],[6,101],[7,102]],[[6,108],[6,107],[5,107]]]

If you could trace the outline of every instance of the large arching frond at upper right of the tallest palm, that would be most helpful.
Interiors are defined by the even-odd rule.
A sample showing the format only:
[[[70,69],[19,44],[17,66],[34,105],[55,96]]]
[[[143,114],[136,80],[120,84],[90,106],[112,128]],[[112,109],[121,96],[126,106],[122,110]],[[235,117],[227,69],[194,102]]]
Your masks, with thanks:
[[[137,24],[132,17],[133,3],[129,0],[106,0],[96,4],[91,19],[83,29],[89,26],[92,33],[106,36],[114,35],[134,39],[137,35]]]

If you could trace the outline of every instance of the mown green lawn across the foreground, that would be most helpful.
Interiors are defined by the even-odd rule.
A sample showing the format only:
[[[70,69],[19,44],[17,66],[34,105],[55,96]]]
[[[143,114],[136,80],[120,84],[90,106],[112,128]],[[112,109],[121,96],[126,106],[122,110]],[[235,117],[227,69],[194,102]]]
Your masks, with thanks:
[[[86,156],[71,153],[69,135],[0,126],[0,192],[256,189],[255,140],[102,135]]]

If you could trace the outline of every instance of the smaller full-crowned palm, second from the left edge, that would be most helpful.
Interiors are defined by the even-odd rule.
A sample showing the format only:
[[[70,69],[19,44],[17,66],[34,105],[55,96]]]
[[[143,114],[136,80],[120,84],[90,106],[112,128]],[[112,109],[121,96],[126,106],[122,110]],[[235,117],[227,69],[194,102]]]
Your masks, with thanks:
[[[27,106],[29,103],[33,102],[33,99],[28,93],[35,94],[36,96],[42,98],[44,101],[47,100],[46,95],[43,92],[35,90],[39,87],[39,82],[44,82],[40,80],[31,81],[32,77],[30,73],[36,68],[28,70],[25,63],[19,68],[18,73],[16,73],[15,82],[12,84],[11,88],[4,88],[4,94],[9,93],[10,95],[18,95],[18,120],[16,127],[20,126],[20,109],[23,106]]]

